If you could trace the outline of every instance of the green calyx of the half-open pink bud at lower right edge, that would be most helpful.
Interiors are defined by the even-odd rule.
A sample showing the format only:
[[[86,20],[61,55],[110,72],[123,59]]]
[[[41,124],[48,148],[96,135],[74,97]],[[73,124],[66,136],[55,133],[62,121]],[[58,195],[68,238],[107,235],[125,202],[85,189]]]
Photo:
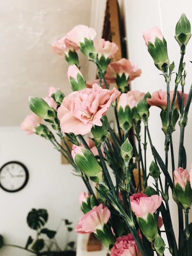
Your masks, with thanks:
[[[182,205],[183,209],[190,208],[192,204],[192,189],[190,182],[187,180],[186,187],[183,189],[179,183],[174,187],[175,195]]]

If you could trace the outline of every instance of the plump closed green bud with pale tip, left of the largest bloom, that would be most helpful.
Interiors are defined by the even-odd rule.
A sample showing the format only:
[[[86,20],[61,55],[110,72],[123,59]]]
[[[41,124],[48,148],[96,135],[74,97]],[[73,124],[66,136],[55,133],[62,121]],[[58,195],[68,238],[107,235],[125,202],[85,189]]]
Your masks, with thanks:
[[[39,117],[44,119],[48,110],[52,110],[42,98],[29,97],[29,108]]]

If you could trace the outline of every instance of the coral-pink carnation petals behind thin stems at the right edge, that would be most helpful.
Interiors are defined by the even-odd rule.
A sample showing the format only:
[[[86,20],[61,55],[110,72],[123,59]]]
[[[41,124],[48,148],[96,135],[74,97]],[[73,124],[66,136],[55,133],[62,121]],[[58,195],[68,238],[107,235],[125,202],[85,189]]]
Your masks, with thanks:
[[[174,91],[170,91],[170,103],[172,104]],[[180,96],[182,96],[182,92],[179,92]],[[184,106],[187,102],[188,94],[184,93]],[[161,89],[159,91],[153,92],[151,95],[151,99],[147,98],[147,102],[150,106],[156,106],[161,109],[167,108],[167,92],[163,92]],[[179,108],[177,94],[175,98],[175,108]]]

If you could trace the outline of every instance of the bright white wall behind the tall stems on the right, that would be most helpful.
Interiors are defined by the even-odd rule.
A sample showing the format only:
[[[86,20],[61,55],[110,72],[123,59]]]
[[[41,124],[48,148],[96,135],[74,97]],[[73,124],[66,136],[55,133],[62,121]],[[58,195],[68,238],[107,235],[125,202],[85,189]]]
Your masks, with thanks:
[[[180,47],[176,42],[175,36],[175,26],[177,21],[180,19],[182,12],[184,12],[191,22],[192,25],[192,3],[191,1],[179,1],[179,0],[124,0],[121,5],[121,10],[125,14],[126,23],[126,34],[127,34],[127,44],[128,44],[128,55],[129,59],[138,64],[139,68],[142,70],[142,74],[139,78],[132,82],[132,90],[139,90],[141,92],[155,92],[159,89],[166,91],[166,84],[164,82],[164,77],[160,76],[161,73],[154,65],[153,59],[148,53],[147,46],[143,40],[143,31],[158,26],[167,41],[168,56],[170,62],[174,60],[176,65],[175,72],[178,71],[179,61],[180,61]],[[192,56],[192,39],[189,41],[186,49],[186,56],[184,61],[186,62],[186,85],[185,92],[188,93],[191,82],[191,60]],[[171,89],[174,90],[174,80],[175,74],[172,75]],[[181,90],[181,87],[178,87]],[[156,107],[150,108],[149,117],[149,130],[151,132],[152,142],[156,149],[164,159],[164,133],[161,130],[161,120],[159,117],[160,109]],[[189,119],[188,125],[185,131],[184,146],[187,153],[187,168],[190,170],[190,163],[192,162],[191,155],[191,129],[192,129],[192,108],[189,109]],[[173,132],[172,138],[174,143],[174,153],[175,153],[175,165],[178,163],[178,146],[179,146],[179,126],[177,125],[176,131]],[[148,143],[149,148],[149,143]],[[150,149],[148,150],[148,167],[153,160]],[[171,158],[170,158],[171,159]],[[170,160],[171,162],[171,160]],[[172,173],[171,163],[169,162],[169,172]],[[172,174],[171,174],[172,175]],[[170,193],[170,198],[172,197]],[[171,202],[171,214],[172,220],[174,222],[174,230],[176,236],[178,235],[178,219],[177,219],[177,206],[174,202]],[[190,220],[192,219],[192,213],[190,212]],[[166,252],[169,255],[169,252]]]

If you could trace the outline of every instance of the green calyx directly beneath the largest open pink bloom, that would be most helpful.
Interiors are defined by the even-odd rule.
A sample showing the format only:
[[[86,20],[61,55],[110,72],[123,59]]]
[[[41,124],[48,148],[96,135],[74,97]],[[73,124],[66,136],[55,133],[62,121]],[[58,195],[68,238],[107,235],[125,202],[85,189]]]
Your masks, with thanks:
[[[102,116],[100,121],[102,122],[102,126],[93,125],[91,132],[94,137],[94,141],[96,140],[99,143],[104,142],[108,137],[108,119],[107,116]]]

